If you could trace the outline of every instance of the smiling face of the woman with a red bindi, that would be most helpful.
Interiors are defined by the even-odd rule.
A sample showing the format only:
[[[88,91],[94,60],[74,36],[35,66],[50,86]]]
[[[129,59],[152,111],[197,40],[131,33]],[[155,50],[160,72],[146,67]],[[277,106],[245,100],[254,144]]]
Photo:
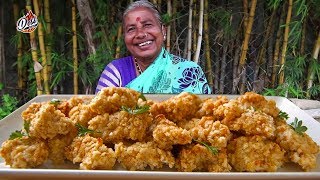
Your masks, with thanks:
[[[139,60],[155,60],[162,48],[164,28],[152,11],[138,7],[124,17],[123,23],[128,51]]]

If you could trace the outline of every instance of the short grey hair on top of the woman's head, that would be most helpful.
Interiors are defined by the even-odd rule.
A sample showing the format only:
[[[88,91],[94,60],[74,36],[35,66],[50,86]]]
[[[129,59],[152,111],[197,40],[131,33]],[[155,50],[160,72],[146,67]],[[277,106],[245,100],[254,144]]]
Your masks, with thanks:
[[[153,12],[153,14],[156,16],[158,22],[160,24],[162,24],[161,16],[160,16],[160,13],[159,13],[157,7],[154,4],[152,4],[151,2],[149,2],[148,0],[139,0],[139,1],[135,1],[135,2],[132,2],[131,4],[129,4],[127,9],[124,10],[124,12],[123,12],[122,19],[124,20],[124,18],[126,17],[126,15],[128,15],[128,13],[130,11],[132,11],[136,8],[139,8],[139,7],[144,7],[144,8],[151,10],[151,12]]]

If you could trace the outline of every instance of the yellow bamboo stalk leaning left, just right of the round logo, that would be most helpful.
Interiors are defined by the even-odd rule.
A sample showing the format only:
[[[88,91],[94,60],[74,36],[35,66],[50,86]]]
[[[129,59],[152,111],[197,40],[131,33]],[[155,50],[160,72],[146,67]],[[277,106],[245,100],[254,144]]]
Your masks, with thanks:
[[[38,0],[33,0],[33,6],[35,14],[40,17],[40,10]],[[38,22],[38,38],[39,38],[39,46],[40,46],[40,53],[42,58],[42,66],[43,66],[43,84],[44,84],[44,91],[46,94],[50,94],[49,88],[49,76],[48,76],[48,66],[47,66],[47,56],[46,56],[46,48],[44,43],[44,34],[43,34],[43,24],[41,21]]]

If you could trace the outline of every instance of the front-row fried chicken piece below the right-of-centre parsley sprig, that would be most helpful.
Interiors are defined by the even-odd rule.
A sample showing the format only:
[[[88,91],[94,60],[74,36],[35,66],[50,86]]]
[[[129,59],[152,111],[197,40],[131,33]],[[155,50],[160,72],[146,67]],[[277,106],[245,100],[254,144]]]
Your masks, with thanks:
[[[178,171],[209,171],[229,172],[231,166],[228,164],[226,148],[219,149],[216,154],[201,144],[186,145],[179,152],[176,159]]]

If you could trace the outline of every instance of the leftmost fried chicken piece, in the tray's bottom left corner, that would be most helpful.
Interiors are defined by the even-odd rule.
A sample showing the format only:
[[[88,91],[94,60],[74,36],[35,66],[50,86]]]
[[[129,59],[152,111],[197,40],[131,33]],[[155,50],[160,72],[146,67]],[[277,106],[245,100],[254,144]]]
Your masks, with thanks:
[[[0,155],[12,168],[33,168],[48,158],[48,147],[40,139],[24,136],[2,143]]]

